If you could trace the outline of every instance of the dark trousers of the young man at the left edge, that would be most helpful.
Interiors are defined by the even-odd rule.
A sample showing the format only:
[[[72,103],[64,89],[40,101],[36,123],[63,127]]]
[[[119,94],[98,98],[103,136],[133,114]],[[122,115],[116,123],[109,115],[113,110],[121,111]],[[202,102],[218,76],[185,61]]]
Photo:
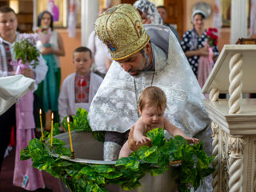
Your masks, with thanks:
[[[15,104],[4,114],[0,115],[0,171],[6,148],[10,143],[12,126],[14,126],[14,130],[16,130]]]

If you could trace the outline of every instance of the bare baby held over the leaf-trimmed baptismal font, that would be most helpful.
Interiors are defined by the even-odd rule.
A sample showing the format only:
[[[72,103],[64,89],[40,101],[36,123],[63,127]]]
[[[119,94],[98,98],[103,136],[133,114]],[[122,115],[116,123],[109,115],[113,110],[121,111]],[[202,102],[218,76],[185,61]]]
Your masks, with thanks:
[[[164,117],[166,109],[166,94],[156,86],[149,86],[142,91],[138,103],[141,117],[130,129],[129,138],[122,146],[119,158],[128,157],[140,146],[150,146],[150,138],[145,135],[148,131],[162,127],[170,135],[181,135],[188,142],[198,143],[198,138],[188,138],[186,134]]]

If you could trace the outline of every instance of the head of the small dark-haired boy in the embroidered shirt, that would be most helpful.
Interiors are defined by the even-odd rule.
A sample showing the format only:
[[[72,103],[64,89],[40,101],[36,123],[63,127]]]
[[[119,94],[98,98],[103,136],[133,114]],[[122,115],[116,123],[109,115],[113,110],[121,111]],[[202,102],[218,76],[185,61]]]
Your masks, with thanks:
[[[79,46],[73,52],[73,63],[77,74],[84,76],[90,72],[90,66],[92,66],[94,59],[90,49],[86,46]]]

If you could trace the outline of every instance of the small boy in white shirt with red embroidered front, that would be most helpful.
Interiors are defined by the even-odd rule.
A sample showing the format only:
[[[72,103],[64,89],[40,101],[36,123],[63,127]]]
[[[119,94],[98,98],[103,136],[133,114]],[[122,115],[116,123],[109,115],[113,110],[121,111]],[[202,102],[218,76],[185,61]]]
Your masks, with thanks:
[[[58,114],[61,122],[67,115],[76,114],[78,107],[89,110],[102,78],[90,71],[94,59],[90,49],[80,46],[74,50],[73,63],[76,72],[65,78],[58,97]]]

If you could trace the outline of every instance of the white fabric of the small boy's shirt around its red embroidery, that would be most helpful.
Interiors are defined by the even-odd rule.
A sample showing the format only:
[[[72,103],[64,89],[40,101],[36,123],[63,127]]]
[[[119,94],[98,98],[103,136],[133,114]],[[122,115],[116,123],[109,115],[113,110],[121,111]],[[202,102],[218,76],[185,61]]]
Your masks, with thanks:
[[[90,90],[89,90],[89,102],[74,102],[74,78],[75,73],[67,76],[62,83],[62,90],[58,97],[58,114],[61,119],[65,118],[68,114],[75,115],[78,107],[89,110],[90,102],[93,100],[98,87],[102,83],[102,77],[97,74],[90,74]]]

